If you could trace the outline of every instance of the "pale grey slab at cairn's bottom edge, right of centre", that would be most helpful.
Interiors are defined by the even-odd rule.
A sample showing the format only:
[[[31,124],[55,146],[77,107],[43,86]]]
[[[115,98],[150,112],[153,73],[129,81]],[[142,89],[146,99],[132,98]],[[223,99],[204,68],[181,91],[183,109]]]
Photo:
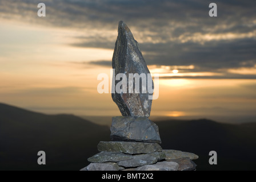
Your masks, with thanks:
[[[178,168],[178,163],[163,161],[156,164],[138,167],[137,171],[178,171]]]

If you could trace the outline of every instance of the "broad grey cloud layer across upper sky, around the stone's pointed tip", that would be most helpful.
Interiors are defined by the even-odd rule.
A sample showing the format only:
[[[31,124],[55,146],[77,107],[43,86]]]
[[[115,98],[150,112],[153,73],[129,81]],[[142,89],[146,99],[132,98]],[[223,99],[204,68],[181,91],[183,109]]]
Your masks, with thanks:
[[[37,17],[39,2],[46,4],[45,18]],[[0,18],[75,29],[82,33],[73,37],[70,46],[107,49],[114,49],[118,21],[122,19],[139,42],[149,65],[195,65],[201,71],[225,74],[231,68],[254,67],[255,2],[216,0],[218,16],[214,18],[208,15],[210,2],[2,0]]]

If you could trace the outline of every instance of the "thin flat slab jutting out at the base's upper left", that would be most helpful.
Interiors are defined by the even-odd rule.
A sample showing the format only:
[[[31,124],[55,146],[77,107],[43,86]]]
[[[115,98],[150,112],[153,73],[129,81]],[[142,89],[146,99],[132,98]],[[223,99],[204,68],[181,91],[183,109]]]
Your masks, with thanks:
[[[88,158],[92,163],[119,162],[122,160],[133,159],[133,155],[123,154],[121,152],[99,152]]]

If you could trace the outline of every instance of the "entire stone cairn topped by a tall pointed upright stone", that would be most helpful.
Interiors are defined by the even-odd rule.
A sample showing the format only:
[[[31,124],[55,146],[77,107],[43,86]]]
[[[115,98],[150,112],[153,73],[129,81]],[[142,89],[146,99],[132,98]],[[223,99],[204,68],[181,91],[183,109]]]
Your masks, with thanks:
[[[137,41],[133,38],[130,29],[124,22],[119,22],[118,37],[113,55],[113,76],[119,73],[129,78],[130,73],[150,74]],[[150,79],[149,79],[150,78]],[[127,79],[127,86],[129,80]],[[113,86],[118,85],[113,81]],[[131,81],[130,81],[131,82]],[[151,77],[146,83],[154,87]],[[140,90],[147,85],[140,85]],[[89,166],[82,171],[184,171],[195,170],[196,164],[192,161],[198,156],[189,152],[177,150],[162,150],[158,126],[148,118],[151,111],[153,93],[121,92],[112,94],[122,116],[113,117],[110,142],[99,142],[98,154],[91,156]],[[129,88],[127,87],[127,90]]]

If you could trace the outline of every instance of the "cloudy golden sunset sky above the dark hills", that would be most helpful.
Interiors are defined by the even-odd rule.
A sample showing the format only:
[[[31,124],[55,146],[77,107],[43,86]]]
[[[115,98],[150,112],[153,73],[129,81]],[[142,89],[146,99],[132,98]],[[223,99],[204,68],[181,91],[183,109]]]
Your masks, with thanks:
[[[217,17],[209,16],[211,2]],[[152,116],[256,121],[252,0],[1,0],[0,102],[47,114],[121,115],[111,94],[97,92],[97,76],[110,77],[119,20],[159,73]]]

